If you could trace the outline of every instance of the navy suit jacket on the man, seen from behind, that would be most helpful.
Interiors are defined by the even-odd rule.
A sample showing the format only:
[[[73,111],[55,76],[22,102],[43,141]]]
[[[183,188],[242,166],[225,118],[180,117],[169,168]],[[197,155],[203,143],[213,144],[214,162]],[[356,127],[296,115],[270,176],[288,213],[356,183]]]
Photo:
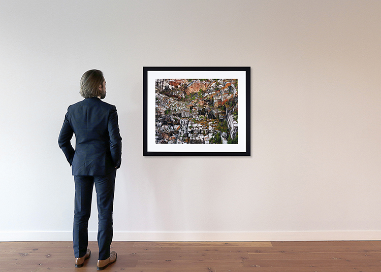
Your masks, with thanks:
[[[75,150],[70,142],[75,134]],[[105,176],[120,167],[122,138],[116,107],[98,97],[69,106],[58,145],[73,176]]]

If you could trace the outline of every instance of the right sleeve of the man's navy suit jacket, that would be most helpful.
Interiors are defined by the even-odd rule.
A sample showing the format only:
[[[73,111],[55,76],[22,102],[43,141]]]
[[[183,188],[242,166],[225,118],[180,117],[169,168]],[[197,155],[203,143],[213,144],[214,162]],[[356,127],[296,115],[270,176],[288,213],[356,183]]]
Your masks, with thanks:
[[[118,114],[116,107],[112,106],[108,122],[108,130],[110,136],[110,151],[115,168],[119,168],[122,158],[122,138],[120,137]]]

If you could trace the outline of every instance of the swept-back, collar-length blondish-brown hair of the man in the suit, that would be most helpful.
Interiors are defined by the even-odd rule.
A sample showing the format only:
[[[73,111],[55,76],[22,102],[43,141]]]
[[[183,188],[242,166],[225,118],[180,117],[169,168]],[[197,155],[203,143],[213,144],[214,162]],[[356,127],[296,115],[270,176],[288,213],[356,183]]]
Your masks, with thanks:
[[[102,92],[99,85],[103,84],[105,78],[100,70],[89,70],[83,74],[80,84],[81,89],[79,94],[84,98],[91,98],[94,96],[101,96]]]

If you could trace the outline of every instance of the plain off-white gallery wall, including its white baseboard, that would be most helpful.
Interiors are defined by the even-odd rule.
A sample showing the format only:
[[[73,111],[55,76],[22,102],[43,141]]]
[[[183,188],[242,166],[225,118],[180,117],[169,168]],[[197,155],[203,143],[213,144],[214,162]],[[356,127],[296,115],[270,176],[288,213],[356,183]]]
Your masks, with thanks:
[[[71,240],[57,137],[89,69],[123,138],[115,240],[380,240],[380,14],[379,1],[0,0],[0,241]],[[251,66],[251,157],[142,156],[142,67],[172,65]]]

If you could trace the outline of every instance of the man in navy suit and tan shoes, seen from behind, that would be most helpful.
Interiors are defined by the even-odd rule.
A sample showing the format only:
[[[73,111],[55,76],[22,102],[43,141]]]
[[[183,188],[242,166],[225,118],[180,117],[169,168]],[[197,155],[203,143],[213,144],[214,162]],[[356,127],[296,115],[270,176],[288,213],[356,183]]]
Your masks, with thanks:
[[[121,163],[118,115],[113,105],[103,102],[106,81],[99,70],[90,70],[81,78],[80,94],[84,100],[71,105],[58,137],[58,145],[72,166],[75,182],[73,248],[75,267],[82,267],[90,257],[87,249],[87,225],[90,218],[93,184],[98,205],[98,270],[116,261],[110,252],[112,212],[116,169]],[[76,138],[75,150],[70,140]]]

